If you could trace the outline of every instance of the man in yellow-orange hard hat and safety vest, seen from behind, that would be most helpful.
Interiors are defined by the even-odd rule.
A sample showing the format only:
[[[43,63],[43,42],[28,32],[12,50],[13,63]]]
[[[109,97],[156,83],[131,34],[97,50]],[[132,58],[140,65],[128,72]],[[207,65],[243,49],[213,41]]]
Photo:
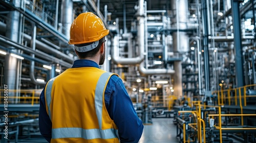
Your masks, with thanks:
[[[40,94],[39,130],[48,142],[138,142],[143,124],[118,75],[99,68],[105,59],[102,20],[81,13],[70,28],[78,60]]]

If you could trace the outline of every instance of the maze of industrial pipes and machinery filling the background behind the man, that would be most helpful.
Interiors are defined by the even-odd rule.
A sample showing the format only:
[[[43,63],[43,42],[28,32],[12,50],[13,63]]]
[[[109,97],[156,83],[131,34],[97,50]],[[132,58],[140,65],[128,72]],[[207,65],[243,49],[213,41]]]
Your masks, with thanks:
[[[170,118],[184,143],[255,142],[255,3],[1,0],[1,142],[6,113],[8,141],[44,140],[39,93],[77,59],[69,28],[86,11],[110,30],[100,68],[121,77],[144,124]]]

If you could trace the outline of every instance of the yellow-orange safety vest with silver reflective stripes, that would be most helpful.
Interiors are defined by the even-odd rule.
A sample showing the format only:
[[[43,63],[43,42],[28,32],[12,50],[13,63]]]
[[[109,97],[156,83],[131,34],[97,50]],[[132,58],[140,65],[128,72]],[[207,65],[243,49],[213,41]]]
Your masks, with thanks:
[[[104,102],[106,84],[112,75],[96,67],[69,68],[47,83],[51,143],[119,142],[118,128]]]

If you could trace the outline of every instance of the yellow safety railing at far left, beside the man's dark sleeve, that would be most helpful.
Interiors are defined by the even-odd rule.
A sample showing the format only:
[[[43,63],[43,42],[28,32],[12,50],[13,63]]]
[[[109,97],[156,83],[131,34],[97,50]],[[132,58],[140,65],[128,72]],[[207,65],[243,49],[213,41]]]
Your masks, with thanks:
[[[0,104],[4,104],[4,91],[0,89]],[[8,89],[8,104],[38,104],[41,91],[42,89]]]

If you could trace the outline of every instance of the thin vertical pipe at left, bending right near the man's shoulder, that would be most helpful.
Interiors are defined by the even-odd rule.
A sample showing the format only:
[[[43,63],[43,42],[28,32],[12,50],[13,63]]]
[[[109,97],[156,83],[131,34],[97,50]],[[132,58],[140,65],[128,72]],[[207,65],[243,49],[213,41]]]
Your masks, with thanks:
[[[36,26],[35,23],[32,23],[32,35],[31,35],[31,41],[30,41],[30,46],[33,51],[35,51],[35,38],[36,38]],[[35,58],[35,54],[31,54],[32,58]],[[31,79],[31,82],[35,85],[42,85],[44,86],[46,82],[38,82],[35,79],[35,61],[32,60],[30,61],[30,70],[29,70],[29,77]]]

